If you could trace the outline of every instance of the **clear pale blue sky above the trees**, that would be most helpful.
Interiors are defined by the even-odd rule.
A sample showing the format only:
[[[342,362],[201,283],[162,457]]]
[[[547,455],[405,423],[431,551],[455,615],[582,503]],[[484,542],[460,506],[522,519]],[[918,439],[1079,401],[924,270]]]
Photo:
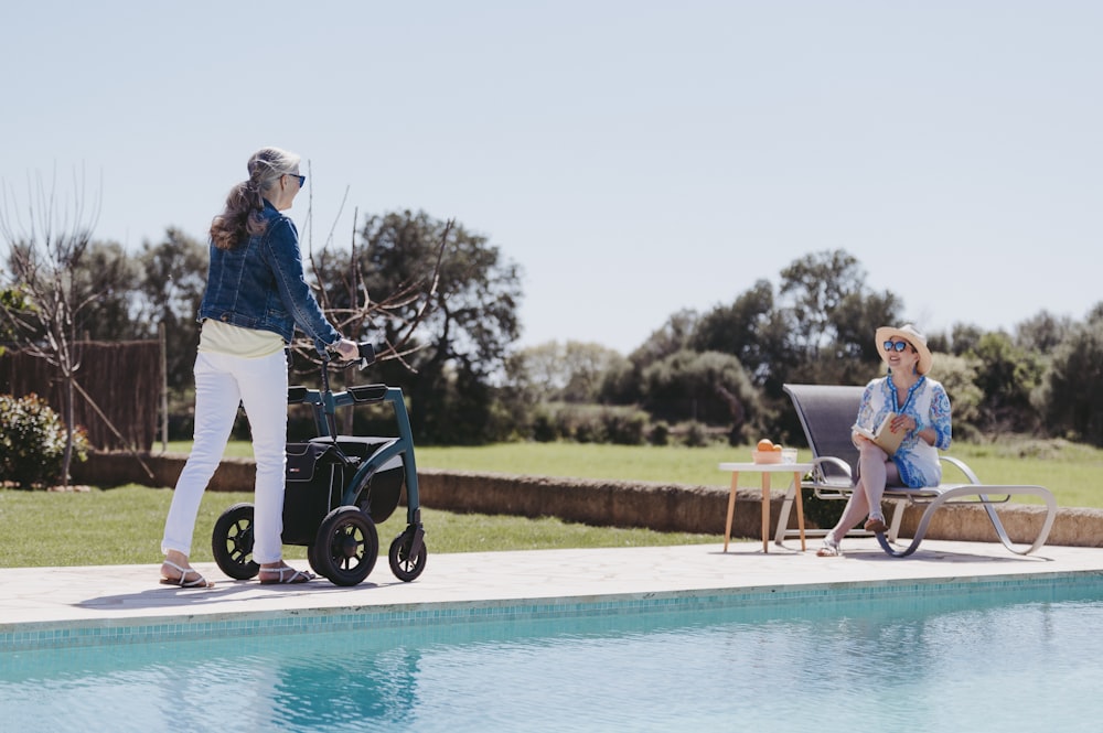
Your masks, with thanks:
[[[354,207],[489,237],[523,345],[628,353],[836,248],[927,331],[1103,300],[1103,2],[36,0],[0,25],[9,196],[83,166],[131,248],[205,239],[275,144],[310,161],[315,247]]]

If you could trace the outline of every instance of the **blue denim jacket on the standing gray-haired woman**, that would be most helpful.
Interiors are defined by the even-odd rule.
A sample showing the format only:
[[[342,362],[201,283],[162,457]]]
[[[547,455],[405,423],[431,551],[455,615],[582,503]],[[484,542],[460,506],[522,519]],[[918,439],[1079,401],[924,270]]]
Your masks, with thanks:
[[[234,249],[211,245],[207,287],[199,320],[271,331],[290,342],[296,324],[314,339],[319,353],[341,339],[318,305],[302,273],[299,233],[288,217],[265,201],[264,234]]]

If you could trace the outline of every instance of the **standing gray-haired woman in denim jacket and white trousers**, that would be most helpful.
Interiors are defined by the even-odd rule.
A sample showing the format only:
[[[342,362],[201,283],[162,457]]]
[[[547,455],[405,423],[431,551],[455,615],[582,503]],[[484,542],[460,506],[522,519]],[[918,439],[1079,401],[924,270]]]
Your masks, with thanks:
[[[283,468],[287,443],[287,346],[298,325],[319,353],[356,357],[355,342],[330,324],[307,284],[295,224],[281,214],[306,183],[299,157],[264,148],[249,177],[211,223],[211,262],[200,304],[195,358],[195,432],[164,524],[161,582],[212,588],[190,564],[200,500],[222,460],[238,403],[245,407],[257,463],[253,559],[260,582],[303,583],[312,573],[283,562]]]

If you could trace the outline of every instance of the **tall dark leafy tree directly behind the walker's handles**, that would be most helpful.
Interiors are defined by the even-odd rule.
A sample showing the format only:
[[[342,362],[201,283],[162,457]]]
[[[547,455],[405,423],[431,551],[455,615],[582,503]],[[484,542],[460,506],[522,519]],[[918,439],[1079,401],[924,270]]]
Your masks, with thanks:
[[[485,237],[425,212],[368,216],[358,242],[347,262],[333,256],[314,265],[344,333],[403,345],[401,358],[377,373],[409,396],[419,440],[491,439],[492,381],[504,373],[520,330],[520,268]],[[387,308],[364,311],[355,302],[361,292]]]

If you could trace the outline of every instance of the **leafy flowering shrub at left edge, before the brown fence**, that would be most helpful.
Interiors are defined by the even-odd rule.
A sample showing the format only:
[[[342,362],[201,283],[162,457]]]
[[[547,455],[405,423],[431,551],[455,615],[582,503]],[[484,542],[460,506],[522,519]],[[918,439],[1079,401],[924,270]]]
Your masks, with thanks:
[[[87,456],[84,433],[73,433],[73,457]],[[65,465],[65,425],[38,395],[0,395],[0,481],[19,488],[57,483]]]

